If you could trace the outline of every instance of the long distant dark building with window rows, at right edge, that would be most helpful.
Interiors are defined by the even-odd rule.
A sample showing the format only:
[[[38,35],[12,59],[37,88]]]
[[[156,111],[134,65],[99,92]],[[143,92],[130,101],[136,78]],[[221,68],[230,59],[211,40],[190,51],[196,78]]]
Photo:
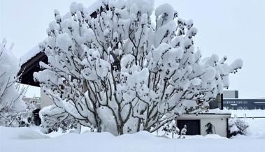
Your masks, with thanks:
[[[241,99],[238,91],[224,91],[223,98],[227,109],[265,109],[265,98]]]

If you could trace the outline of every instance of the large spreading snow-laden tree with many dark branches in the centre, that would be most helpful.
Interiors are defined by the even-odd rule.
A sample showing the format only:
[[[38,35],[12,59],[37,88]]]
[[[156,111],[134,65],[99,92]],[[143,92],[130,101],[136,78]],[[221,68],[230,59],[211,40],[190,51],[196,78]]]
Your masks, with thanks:
[[[63,17],[55,10],[40,44],[48,64],[40,63],[43,70],[34,73],[57,107],[45,120],[62,120],[60,111],[99,132],[154,132],[179,114],[208,106],[229,86],[229,73],[242,61],[201,59],[192,20],[163,4],[152,22],[153,6],[145,0],[106,1],[96,18],[81,3],[72,3]]]

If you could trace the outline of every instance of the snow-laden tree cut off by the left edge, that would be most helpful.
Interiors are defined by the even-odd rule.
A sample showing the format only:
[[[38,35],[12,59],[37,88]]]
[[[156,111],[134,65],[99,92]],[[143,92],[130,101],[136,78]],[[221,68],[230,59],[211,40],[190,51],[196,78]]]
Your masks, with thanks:
[[[19,126],[20,112],[26,108],[22,101],[24,89],[16,83],[18,70],[18,61],[4,39],[0,43],[0,126]]]

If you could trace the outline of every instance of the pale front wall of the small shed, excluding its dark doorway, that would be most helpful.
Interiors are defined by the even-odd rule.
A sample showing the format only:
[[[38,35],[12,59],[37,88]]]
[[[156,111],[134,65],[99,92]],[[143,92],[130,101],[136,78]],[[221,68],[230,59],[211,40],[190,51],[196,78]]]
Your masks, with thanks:
[[[231,114],[189,114],[178,117],[178,120],[199,120],[200,121],[200,135],[207,135],[206,124],[211,123],[213,125],[213,134],[227,137],[228,119]],[[178,124],[177,124],[178,125]],[[188,130],[187,130],[188,131]]]

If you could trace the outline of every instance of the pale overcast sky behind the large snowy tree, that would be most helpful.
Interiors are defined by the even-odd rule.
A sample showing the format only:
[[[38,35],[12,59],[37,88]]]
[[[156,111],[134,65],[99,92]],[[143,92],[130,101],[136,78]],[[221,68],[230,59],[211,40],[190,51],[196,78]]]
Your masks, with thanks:
[[[46,28],[56,8],[62,14],[73,0],[0,0],[0,39],[14,42],[18,58],[46,37]],[[96,0],[79,0],[88,7]],[[239,98],[265,98],[265,1],[263,0],[155,0],[170,3],[182,19],[194,20],[199,30],[195,45],[203,56],[241,58],[243,69],[231,75],[229,90]],[[27,96],[39,96],[29,89]]]

